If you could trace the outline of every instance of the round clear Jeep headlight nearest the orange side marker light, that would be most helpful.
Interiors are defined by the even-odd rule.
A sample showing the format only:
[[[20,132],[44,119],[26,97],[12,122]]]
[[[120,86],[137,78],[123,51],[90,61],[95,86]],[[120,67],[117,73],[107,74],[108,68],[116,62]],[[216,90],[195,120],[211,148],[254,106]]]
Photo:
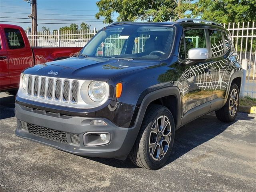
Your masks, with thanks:
[[[92,81],[88,88],[88,94],[91,100],[100,102],[106,96],[106,85],[101,81]]]

